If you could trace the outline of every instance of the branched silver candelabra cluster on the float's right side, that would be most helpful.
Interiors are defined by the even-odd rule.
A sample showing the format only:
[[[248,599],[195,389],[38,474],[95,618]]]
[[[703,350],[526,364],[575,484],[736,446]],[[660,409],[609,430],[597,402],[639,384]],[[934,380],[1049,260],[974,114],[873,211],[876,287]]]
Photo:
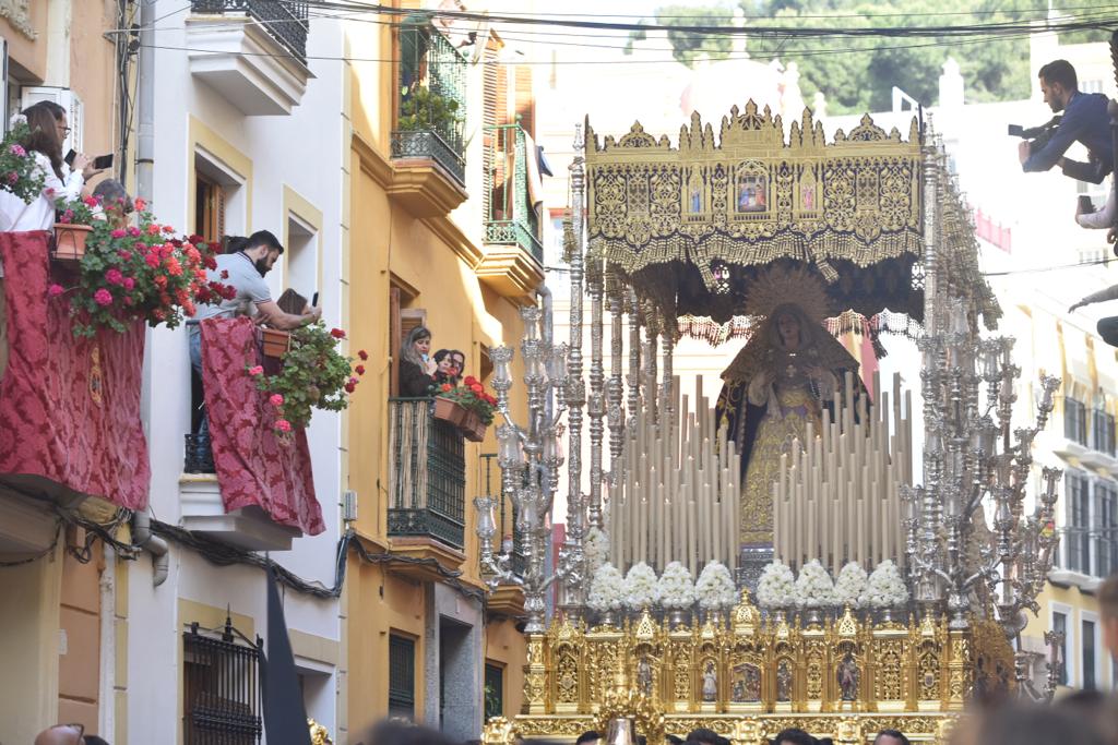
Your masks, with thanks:
[[[1036,611],[1052,567],[1052,529],[1061,471],[1044,468],[1031,514],[1026,490],[1033,438],[1044,429],[1060,380],[1040,379],[1032,427],[1012,429],[1012,338],[979,340],[963,304],[938,334],[919,341],[925,416],[925,485],[904,487],[904,525],[913,596],[927,610],[946,598],[949,624],[993,615],[1010,639]]]

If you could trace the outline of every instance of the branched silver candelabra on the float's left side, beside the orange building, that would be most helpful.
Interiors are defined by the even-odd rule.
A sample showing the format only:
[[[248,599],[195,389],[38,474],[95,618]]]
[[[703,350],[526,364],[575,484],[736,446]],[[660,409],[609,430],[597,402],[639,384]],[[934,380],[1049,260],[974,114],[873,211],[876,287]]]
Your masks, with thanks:
[[[566,344],[552,344],[541,324],[541,312],[529,307],[521,311],[524,323],[520,350],[523,360],[523,383],[528,393],[528,413],[524,424],[518,424],[509,408],[509,391],[513,386],[513,351],[499,346],[492,352],[493,390],[496,391],[498,410],[504,423],[496,428],[498,462],[501,466],[501,498],[512,505],[514,529],[521,536],[524,569],[521,574],[512,571],[510,545],[500,554],[493,553],[496,534],[495,510],[498,498],[474,499],[477,509],[477,536],[481,539],[482,571],[486,582],[518,584],[524,592],[525,631],[544,630],[546,593],[558,580],[579,582],[582,556],[565,545],[559,563],[550,574],[546,556],[551,546],[551,505],[558,489],[558,469],[563,462],[560,438],[561,419],[567,411],[570,375],[567,370],[569,354]],[[580,547],[580,544],[577,546]]]

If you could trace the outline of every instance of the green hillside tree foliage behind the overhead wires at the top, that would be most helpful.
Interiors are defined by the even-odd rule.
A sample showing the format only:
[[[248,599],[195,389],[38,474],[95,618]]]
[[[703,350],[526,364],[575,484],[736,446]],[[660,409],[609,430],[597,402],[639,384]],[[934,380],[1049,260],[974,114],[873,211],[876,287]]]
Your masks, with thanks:
[[[746,28],[882,28],[961,26],[1021,21],[1036,18],[1034,0],[740,0]],[[1034,11],[1022,16],[1017,10]],[[690,16],[690,18],[678,18]],[[728,26],[732,11],[724,7],[657,10],[665,26]],[[711,19],[709,22],[700,18]],[[674,56],[692,64],[700,54],[724,57],[731,42],[724,36],[669,31]],[[973,38],[789,38],[751,36],[751,58],[773,57],[799,67],[804,97],[822,90],[831,113],[881,111],[891,106],[892,87],[926,105],[937,103],[939,75],[948,57],[955,58],[970,102],[1011,101],[1029,96],[1029,38],[1025,35]]]

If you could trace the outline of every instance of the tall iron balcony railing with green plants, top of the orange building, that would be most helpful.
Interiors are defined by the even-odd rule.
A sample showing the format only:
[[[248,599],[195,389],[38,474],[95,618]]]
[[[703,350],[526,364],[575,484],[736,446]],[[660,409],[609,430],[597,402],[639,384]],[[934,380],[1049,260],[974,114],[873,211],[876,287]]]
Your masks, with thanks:
[[[423,13],[405,19],[398,38],[392,157],[430,159],[465,185],[466,58]]]

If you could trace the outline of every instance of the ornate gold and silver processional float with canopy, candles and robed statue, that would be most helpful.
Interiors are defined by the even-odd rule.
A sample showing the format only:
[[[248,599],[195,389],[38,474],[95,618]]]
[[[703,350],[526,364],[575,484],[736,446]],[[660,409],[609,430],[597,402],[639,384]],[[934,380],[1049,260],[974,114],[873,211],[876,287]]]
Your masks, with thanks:
[[[496,499],[475,500],[479,535],[491,584],[523,590],[528,661],[522,714],[486,742],[615,718],[657,745],[788,726],[940,742],[972,697],[1051,695],[1018,637],[1057,541],[1060,474],[1034,478],[1030,450],[1059,381],[1015,427],[1012,340],[980,335],[999,308],[930,132],[866,116],[827,141],[805,111],[786,136],[750,102],[717,135],[695,114],[674,144],[639,124],[577,140],[571,341],[524,311],[524,422],[508,416],[513,351],[493,353],[524,570],[493,552]],[[861,375],[836,340],[851,331],[879,353],[883,333],[917,340],[922,438],[912,392]],[[684,334],[746,340],[717,400],[680,391]]]

